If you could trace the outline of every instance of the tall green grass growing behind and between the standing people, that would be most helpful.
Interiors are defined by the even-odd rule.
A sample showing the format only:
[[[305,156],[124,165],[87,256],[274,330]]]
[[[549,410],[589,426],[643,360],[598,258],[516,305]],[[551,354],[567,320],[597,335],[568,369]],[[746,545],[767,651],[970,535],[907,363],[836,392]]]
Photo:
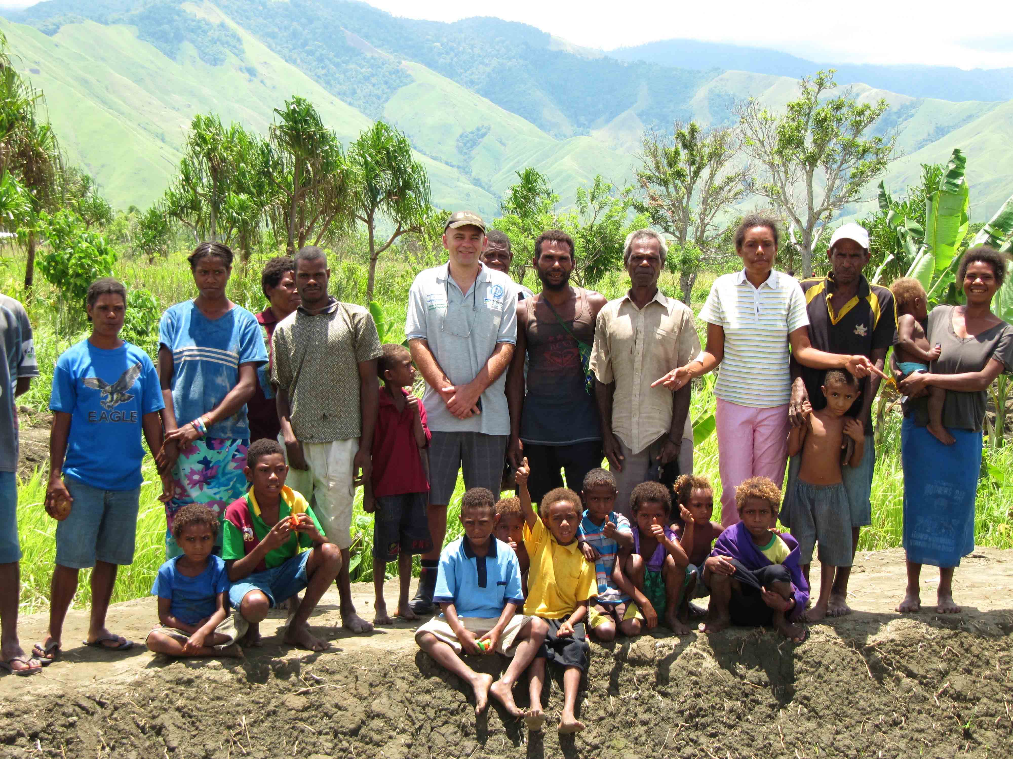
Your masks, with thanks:
[[[230,297],[236,303],[252,311],[263,308],[260,292],[259,272],[266,255],[255,256],[248,267],[238,265],[230,280]],[[375,298],[385,312],[388,323],[388,341],[403,339],[406,293],[414,275],[422,268],[438,263],[435,256],[415,256],[407,251],[381,259],[377,275]],[[25,300],[19,282],[23,279],[23,264],[20,259],[0,258],[0,291],[6,292],[25,303],[29,318],[35,330],[35,348],[42,376],[32,384],[31,390],[18,399],[19,405],[27,406],[23,423],[43,423],[49,406],[53,367],[60,353],[70,345],[83,339],[87,331],[80,325],[74,329],[70,309],[59,291],[38,281],[30,299]],[[331,292],[343,301],[365,305],[367,266],[361,251],[332,254]],[[167,260],[149,265],[136,258],[124,258],[116,264],[115,274],[132,288],[145,288],[153,292],[161,309],[190,299],[194,296],[192,279],[186,264],[185,254],[176,253]],[[706,298],[710,284],[717,273],[704,273],[698,278],[693,292],[694,311],[698,311]],[[529,269],[525,283],[537,289],[537,281]],[[667,294],[677,291],[678,281],[668,272],[663,274],[659,285]],[[617,298],[628,287],[628,280],[622,272],[610,272],[596,288],[607,298]],[[139,342],[149,351],[157,347],[157,323],[148,325],[149,332],[139,336]],[[700,334],[705,330],[698,325]],[[691,414],[700,419],[714,410],[714,398],[710,393],[694,392]],[[875,550],[900,545],[902,537],[902,503],[904,483],[900,456],[900,413],[894,410],[887,415],[880,430],[881,441],[877,450],[878,460],[872,486],[871,527],[862,531],[859,549]],[[1013,472],[1013,447],[987,449],[983,462],[983,476],[978,493],[977,535],[982,545],[1013,547],[1013,478],[996,479],[995,473]],[[717,441],[712,435],[695,450],[695,471],[710,478],[715,488],[715,503],[719,504],[720,477],[717,466]],[[165,516],[157,496],[160,492],[158,478],[150,457],[145,459],[143,473],[145,484],[141,489],[141,511],[138,519],[137,551],[134,564],[121,569],[113,593],[113,601],[123,601],[147,595],[151,591],[158,567],[164,559]],[[45,472],[35,472],[18,487],[18,533],[24,558],[21,562],[22,592],[21,607],[26,612],[40,611],[49,604],[49,586],[53,571],[56,546],[54,535],[56,522],[43,509],[46,495]],[[579,486],[579,484],[576,484]],[[464,484],[458,479],[457,488],[448,509],[447,539],[461,534],[458,520],[460,499]],[[715,509],[719,518],[720,506]],[[357,496],[353,516],[354,558],[353,577],[359,581],[371,581],[373,577],[373,518],[362,510],[362,495]],[[397,573],[397,564],[387,567],[387,575]],[[417,560],[415,563],[417,574]],[[74,605],[85,606],[90,601],[88,572],[82,573]]]

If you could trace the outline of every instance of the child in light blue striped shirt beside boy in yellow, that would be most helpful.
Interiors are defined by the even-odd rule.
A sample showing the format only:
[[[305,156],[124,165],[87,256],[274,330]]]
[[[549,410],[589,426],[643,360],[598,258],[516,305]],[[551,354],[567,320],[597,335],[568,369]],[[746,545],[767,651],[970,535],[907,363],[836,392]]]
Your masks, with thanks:
[[[588,623],[599,641],[615,640],[617,629],[638,636],[643,621],[636,604],[613,578],[619,551],[633,547],[629,519],[613,510],[617,492],[616,478],[603,469],[589,472],[580,490],[587,508],[576,535],[583,558],[595,567],[598,597],[588,609]]]

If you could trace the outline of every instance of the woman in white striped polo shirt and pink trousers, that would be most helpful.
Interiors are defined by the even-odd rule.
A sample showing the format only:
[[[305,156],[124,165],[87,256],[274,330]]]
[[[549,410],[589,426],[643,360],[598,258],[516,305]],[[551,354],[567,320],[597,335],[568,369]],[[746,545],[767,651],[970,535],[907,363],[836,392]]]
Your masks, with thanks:
[[[721,474],[721,523],[738,521],[735,488],[751,477],[784,482],[788,460],[788,345],[795,359],[819,369],[871,370],[860,355],[825,353],[809,344],[805,297],[793,277],[774,271],[780,235],[777,223],[751,215],[735,230],[735,252],[744,268],[714,280],[699,317],[707,322],[707,346],[689,363],[655,384],[679,390],[720,364],[717,445]]]

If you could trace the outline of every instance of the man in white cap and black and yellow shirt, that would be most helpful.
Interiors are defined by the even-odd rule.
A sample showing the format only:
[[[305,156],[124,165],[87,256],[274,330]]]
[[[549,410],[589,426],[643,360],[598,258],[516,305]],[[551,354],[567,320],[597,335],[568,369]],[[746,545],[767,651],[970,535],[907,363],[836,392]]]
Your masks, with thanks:
[[[806,311],[809,317],[809,341],[817,350],[830,353],[859,354],[883,368],[886,351],[893,343],[897,313],[893,297],[885,287],[869,284],[862,269],[869,262],[869,233],[857,224],[841,227],[830,241],[827,253],[833,271],[825,277],[803,279]],[[803,408],[813,411],[827,405],[821,386],[824,371],[791,361],[791,423],[804,423]],[[851,506],[852,545],[858,545],[859,528],[872,523],[872,472],[876,453],[872,439],[872,401],[879,392],[879,377],[859,380],[862,395],[848,411],[865,428],[865,456],[858,467],[842,470],[844,487]],[[789,477],[797,462],[789,470]],[[782,516],[790,519],[790,513]],[[787,524],[788,522],[785,522]],[[854,551],[854,550],[853,550]],[[830,613],[837,616],[851,609],[846,603],[850,567],[839,567],[831,595]]]

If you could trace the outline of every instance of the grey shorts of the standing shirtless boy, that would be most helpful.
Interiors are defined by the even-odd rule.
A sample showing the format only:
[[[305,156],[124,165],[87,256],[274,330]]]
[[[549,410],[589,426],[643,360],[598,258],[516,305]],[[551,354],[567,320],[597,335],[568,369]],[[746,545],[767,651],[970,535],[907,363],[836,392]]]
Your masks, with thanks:
[[[800,563],[812,561],[812,546],[819,542],[821,562],[850,567],[851,508],[844,485],[809,485],[796,479],[791,494],[791,534],[798,540]]]

